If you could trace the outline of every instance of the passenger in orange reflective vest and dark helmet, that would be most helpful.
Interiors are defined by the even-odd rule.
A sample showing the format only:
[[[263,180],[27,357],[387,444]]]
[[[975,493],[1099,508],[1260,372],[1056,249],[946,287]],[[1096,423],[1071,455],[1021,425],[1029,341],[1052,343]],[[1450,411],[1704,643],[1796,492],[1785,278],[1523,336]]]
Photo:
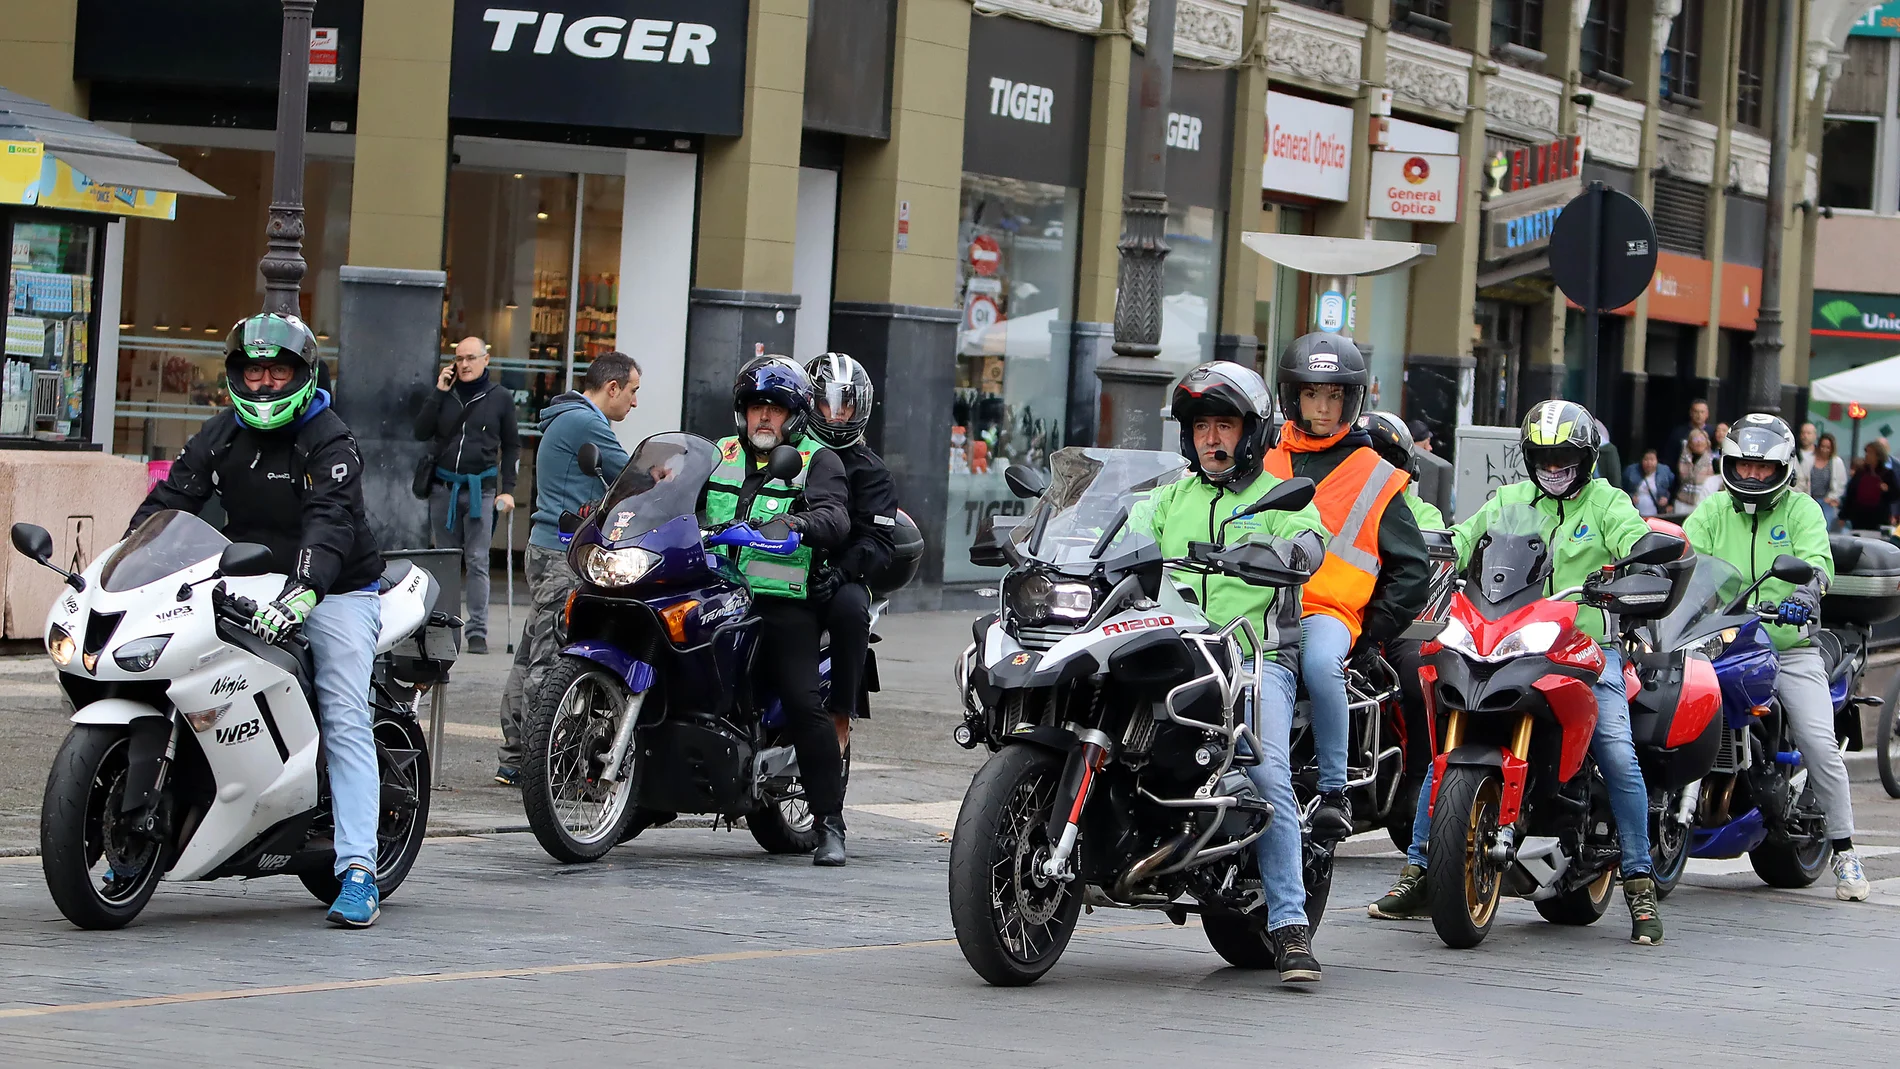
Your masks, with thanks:
[[[1279,401],[1286,416],[1265,467],[1281,478],[1319,484],[1313,499],[1332,532],[1326,562],[1302,592],[1300,678],[1313,716],[1320,803],[1313,837],[1353,834],[1345,797],[1351,706],[1345,663],[1400,634],[1431,596],[1431,554],[1410,509],[1391,509],[1406,475],[1381,459],[1358,429],[1372,382],[1351,338],[1313,332],[1281,353]]]

